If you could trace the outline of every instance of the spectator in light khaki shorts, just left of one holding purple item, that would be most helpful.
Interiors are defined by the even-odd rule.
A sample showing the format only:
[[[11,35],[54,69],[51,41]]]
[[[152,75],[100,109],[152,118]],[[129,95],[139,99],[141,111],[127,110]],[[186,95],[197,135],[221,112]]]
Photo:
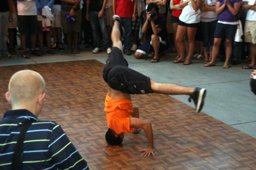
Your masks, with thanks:
[[[62,29],[61,29],[61,1],[55,0],[53,4],[54,9],[54,20],[52,21],[52,36],[54,40],[54,44],[52,46],[52,50],[55,50],[58,48],[59,51],[64,51],[63,44],[62,44]]]

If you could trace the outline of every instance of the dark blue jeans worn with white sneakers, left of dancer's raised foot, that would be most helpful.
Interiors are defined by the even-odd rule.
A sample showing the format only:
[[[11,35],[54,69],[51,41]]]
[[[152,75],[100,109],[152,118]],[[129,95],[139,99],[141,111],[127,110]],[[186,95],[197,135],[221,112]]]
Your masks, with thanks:
[[[95,47],[100,47],[100,34],[99,34],[99,26],[101,29],[102,37],[103,37],[103,44],[105,48],[111,47],[111,41],[109,38],[109,32],[107,28],[107,18],[106,18],[106,12],[104,12],[103,17],[98,17],[99,12],[97,11],[89,11],[89,20],[92,25],[93,30],[93,39]]]

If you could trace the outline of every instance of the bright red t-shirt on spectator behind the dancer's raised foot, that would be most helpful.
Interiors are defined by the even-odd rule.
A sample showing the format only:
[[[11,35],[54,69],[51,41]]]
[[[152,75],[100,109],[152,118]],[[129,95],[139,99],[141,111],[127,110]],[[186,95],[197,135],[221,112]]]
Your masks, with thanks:
[[[117,0],[116,1],[115,13],[119,17],[132,17],[133,1],[131,1],[131,0]]]

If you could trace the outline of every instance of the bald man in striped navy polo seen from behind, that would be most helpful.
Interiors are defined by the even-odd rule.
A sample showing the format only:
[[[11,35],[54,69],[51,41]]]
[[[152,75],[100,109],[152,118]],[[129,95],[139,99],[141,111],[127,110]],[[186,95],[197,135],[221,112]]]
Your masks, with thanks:
[[[10,78],[8,90],[5,96],[12,110],[6,111],[0,121],[0,169],[15,166],[12,161],[18,136],[29,120],[34,122],[25,135],[22,169],[89,169],[60,125],[37,119],[45,97],[45,82],[39,73],[16,72]]]

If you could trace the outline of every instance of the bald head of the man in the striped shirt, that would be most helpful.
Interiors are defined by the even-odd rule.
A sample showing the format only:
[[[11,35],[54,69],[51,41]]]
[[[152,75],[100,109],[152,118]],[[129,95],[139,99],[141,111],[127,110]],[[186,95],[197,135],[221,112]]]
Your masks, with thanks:
[[[39,115],[45,96],[43,77],[32,70],[16,72],[9,80],[6,99],[12,109],[27,109],[36,116]]]

